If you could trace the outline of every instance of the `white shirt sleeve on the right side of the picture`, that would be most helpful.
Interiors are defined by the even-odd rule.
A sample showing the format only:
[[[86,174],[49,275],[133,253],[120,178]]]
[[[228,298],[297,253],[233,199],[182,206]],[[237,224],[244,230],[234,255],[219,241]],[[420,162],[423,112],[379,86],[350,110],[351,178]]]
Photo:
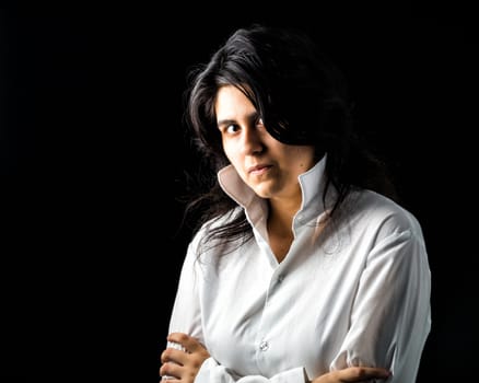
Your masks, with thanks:
[[[331,369],[376,365],[412,383],[431,327],[431,277],[422,234],[393,233],[371,252],[351,326]]]

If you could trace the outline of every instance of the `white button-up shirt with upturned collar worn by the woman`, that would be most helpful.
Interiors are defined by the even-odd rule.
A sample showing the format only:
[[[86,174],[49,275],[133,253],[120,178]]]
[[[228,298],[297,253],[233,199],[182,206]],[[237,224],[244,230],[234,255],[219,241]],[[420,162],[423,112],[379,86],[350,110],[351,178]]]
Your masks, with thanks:
[[[197,259],[205,225],[188,246],[170,332],[197,337],[210,352],[195,382],[304,383],[350,365],[389,369],[388,382],[416,381],[431,326],[421,228],[370,190],[352,193],[322,225],[325,161],[300,176],[303,204],[280,264],[265,200],[233,167],[219,173],[254,239],[224,254],[209,247]]]

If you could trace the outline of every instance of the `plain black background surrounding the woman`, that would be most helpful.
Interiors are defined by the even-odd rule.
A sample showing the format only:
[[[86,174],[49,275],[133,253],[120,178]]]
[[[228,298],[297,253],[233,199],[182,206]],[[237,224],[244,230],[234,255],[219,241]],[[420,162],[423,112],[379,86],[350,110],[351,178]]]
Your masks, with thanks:
[[[303,27],[346,72],[358,128],[428,243],[433,324],[418,382],[474,376],[474,13],[325,3],[1,5],[2,382],[157,381],[188,237],[176,200],[194,161],[186,72],[253,21]]]

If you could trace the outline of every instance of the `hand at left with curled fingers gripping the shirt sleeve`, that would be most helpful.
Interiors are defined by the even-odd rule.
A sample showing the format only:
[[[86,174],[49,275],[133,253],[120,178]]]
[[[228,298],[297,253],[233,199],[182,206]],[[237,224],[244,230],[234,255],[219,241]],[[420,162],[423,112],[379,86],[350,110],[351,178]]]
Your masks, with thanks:
[[[166,339],[183,346],[184,350],[168,347],[162,352],[160,376],[170,376],[172,383],[192,383],[210,353],[198,339],[184,333],[172,333]]]

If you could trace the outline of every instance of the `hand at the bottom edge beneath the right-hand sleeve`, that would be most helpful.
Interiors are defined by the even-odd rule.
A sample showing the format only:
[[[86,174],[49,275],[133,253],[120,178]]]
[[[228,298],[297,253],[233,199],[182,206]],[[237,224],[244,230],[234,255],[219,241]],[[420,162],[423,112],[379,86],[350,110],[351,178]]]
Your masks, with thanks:
[[[311,383],[367,383],[372,379],[387,379],[390,372],[373,367],[349,367],[342,370],[325,373]]]

